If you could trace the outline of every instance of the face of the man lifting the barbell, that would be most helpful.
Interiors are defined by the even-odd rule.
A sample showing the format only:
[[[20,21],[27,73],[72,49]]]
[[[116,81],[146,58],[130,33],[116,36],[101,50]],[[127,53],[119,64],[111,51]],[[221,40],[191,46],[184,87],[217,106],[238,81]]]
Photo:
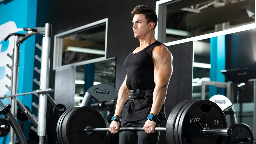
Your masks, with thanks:
[[[144,14],[135,14],[132,20],[134,37],[141,39],[144,38],[150,32],[150,23],[147,23],[147,19]]]

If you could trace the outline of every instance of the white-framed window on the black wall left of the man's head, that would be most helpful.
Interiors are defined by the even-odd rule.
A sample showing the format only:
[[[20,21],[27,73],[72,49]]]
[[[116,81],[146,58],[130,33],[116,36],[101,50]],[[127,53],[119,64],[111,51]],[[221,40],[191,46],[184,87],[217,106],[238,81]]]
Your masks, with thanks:
[[[107,19],[55,35],[54,69],[106,59]]]

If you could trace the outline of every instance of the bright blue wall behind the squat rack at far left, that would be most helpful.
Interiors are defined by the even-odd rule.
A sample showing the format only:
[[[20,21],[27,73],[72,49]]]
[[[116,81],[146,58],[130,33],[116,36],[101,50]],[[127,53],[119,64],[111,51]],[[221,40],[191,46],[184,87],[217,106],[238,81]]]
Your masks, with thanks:
[[[13,21],[17,28],[36,27],[37,0],[12,0],[0,3],[0,25]],[[24,33],[21,31],[19,33]],[[10,32],[12,33],[12,32]],[[6,35],[7,36],[7,35]],[[4,44],[4,43],[2,43]],[[3,51],[2,49],[1,51]],[[34,69],[35,36],[31,36],[20,46],[18,93],[32,91]],[[20,96],[18,99],[30,109],[32,96]],[[23,133],[27,139],[30,122],[24,121]],[[9,135],[0,138],[0,143],[8,144]]]

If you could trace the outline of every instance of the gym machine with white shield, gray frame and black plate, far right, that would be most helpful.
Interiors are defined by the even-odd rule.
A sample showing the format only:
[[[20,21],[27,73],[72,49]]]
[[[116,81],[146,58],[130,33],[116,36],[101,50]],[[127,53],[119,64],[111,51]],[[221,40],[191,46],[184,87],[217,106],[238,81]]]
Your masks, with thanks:
[[[209,100],[213,101],[222,109],[226,116],[230,116],[229,128],[232,129],[232,135],[227,138],[227,144],[233,143],[250,143],[254,144],[254,136],[249,125],[245,123],[237,123],[237,116],[233,103],[229,100],[233,100],[234,84],[232,82],[217,82],[217,81],[202,81],[202,99],[205,99],[205,87],[206,85],[213,85],[216,88],[226,88],[227,97],[223,95],[214,95]],[[229,121],[229,117],[226,117]]]

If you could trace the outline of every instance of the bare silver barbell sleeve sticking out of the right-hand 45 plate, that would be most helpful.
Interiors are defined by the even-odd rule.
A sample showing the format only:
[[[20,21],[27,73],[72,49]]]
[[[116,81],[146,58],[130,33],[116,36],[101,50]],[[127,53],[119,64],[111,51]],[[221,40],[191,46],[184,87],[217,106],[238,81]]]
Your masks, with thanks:
[[[217,128],[210,129],[208,127],[204,127],[204,129],[201,129],[201,131],[205,136],[207,135],[231,136],[232,134],[231,129],[217,129]]]

